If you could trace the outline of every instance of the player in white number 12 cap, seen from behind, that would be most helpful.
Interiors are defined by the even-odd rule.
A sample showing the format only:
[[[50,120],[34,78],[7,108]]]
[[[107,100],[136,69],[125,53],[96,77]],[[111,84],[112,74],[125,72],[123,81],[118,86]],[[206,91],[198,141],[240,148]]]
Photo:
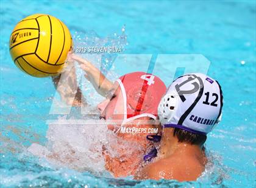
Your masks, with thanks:
[[[222,98],[219,83],[202,73],[172,82],[158,105],[163,127],[160,150],[136,178],[196,180],[207,163],[206,135],[221,120]]]

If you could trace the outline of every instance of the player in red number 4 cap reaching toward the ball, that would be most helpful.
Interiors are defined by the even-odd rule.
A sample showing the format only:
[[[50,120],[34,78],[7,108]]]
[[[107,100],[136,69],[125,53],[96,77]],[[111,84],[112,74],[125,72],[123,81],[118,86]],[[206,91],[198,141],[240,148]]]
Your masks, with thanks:
[[[100,118],[107,121],[108,129],[116,135],[115,144],[104,146],[106,169],[115,177],[134,175],[146,150],[152,147],[146,136],[148,130],[156,127],[152,120],[157,119],[165,84],[157,76],[144,72],[127,73],[112,84],[90,62],[76,55],[71,58],[80,63],[94,88],[106,97],[98,104]]]

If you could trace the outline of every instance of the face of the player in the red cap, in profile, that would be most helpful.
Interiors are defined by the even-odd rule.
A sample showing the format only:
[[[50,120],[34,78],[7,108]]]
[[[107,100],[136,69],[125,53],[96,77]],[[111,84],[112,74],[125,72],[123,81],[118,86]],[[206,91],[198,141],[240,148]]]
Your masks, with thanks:
[[[106,99],[98,104],[100,118],[111,120],[116,124],[124,119],[124,98],[118,82],[107,93]]]

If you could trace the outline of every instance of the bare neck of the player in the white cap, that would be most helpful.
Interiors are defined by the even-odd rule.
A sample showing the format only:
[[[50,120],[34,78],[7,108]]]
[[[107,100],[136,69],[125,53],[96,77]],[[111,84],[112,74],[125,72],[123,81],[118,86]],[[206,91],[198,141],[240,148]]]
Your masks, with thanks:
[[[178,139],[173,136],[174,129],[165,129],[160,144],[160,158],[168,158],[173,153],[182,153],[182,155],[201,155],[202,147],[191,145],[189,143],[179,143]]]

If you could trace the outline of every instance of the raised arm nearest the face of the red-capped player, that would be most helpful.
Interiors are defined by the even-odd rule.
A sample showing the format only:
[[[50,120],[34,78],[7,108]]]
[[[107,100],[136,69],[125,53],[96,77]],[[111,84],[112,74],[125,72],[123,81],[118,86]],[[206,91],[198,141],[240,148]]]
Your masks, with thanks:
[[[80,67],[85,71],[85,78],[88,79],[88,81],[91,82],[91,84],[93,84],[94,89],[102,96],[106,96],[108,91],[110,89],[112,89],[113,87],[113,83],[111,81],[109,81],[107,78],[105,78],[105,76],[103,75],[103,73],[97,69],[96,67],[94,67],[93,64],[91,64],[91,62],[80,58],[77,55],[72,54],[70,56],[71,59],[79,62]]]

